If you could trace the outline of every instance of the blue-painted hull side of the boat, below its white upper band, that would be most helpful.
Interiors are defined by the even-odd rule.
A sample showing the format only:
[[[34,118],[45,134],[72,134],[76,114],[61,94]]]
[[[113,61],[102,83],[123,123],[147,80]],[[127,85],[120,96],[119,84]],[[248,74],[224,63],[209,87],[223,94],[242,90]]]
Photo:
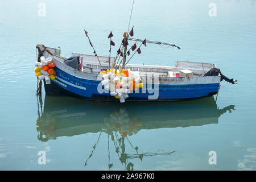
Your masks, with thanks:
[[[110,93],[99,93],[98,85],[100,81],[88,80],[70,75],[69,73],[55,67],[56,79],[44,88],[47,95],[61,95],[82,98],[93,101],[118,101]],[[201,97],[212,96],[218,92],[219,83],[213,84],[193,84],[193,85],[159,85],[158,98],[148,100],[148,96],[154,93],[130,93],[126,101],[177,101],[192,100]],[[154,85],[152,86],[154,89]]]

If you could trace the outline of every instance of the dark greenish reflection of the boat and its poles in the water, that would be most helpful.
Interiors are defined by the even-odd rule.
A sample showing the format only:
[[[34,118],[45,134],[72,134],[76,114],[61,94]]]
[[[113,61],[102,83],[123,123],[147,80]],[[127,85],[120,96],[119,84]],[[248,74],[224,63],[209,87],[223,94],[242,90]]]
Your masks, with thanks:
[[[68,97],[38,98],[38,120],[36,130],[38,139],[42,142],[57,139],[62,136],[81,135],[86,133],[99,133],[97,142],[92,146],[92,153],[85,162],[93,156],[101,134],[108,134],[109,142],[113,142],[115,152],[125,169],[133,170],[133,163],[129,159],[142,158],[154,155],[170,155],[175,151],[144,152],[140,154],[138,147],[134,147],[129,140],[139,130],[151,130],[173,127],[201,126],[218,123],[218,117],[234,105],[218,109],[214,97],[200,100],[168,102],[168,103],[126,103],[119,105],[109,102],[95,104],[84,100]],[[135,154],[126,154],[125,140],[136,151]],[[156,149],[157,150],[157,149]],[[108,148],[109,151],[109,148]],[[112,164],[109,164],[109,169]]]

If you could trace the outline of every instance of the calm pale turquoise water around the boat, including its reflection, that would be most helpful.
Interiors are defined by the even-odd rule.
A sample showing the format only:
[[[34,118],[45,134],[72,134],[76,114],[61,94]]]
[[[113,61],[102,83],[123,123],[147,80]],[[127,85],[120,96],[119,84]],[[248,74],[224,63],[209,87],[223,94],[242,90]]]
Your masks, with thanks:
[[[119,44],[132,1],[0,1],[0,169],[250,170],[256,169],[256,1],[135,0],[135,38],[147,44],[134,64],[214,63],[238,85],[221,82],[216,96],[167,104],[101,105],[35,95],[36,44],[108,56]],[[115,47],[117,49],[117,47]],[[127,137],[126,137],[127,135]],[[40,151],[46,164],[38,163]],[[217,164],[210,165],[210,151]],[[87,161],[86,161],[87,160]],[[85,165],[86,163],[86,165]]]

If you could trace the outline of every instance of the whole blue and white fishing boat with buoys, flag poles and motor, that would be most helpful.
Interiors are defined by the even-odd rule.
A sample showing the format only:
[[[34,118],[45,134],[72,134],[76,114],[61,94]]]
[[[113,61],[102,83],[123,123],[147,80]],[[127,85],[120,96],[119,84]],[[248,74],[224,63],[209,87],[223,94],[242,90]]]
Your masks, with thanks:
[[[129,29],[131,14],[128,31],[124,32],[122,43],[114,57],[110,56],[112,47],[115,46],[112,41],[114,36],[112,31],[108,36],[110,39],[109,56],[97,55],[89,34],[85,30],[94,55],[72,53],[69,58],[62,57],[60,48],[37,45],[38,63],[36,66],[40,66],[35,69],[36,76],[39,77],[38,81],[40,81],[37,93],[41,94],[43,81],[47,95],[72,96],[92,101],[120,101],[121,103],[125,101],[179,101],[213,96],[218,93],[220,82],[223,79],[232,84],[237,83],[237,80],[222,75],[220,69],[212,63],[176,61],[175,67],[128,64],[135,54],[141,54],[141,46],[146,47],[147,43],[180,49],[175,44],[132,38],[134,27]],[[135,42],[129,49],[128,41]],[[137,47],[136,43],[139,42],[141,45]],[[47,61],[51,64],[49,67],[43,64]],[[42,64],[45,68],[43,71],[41,71]]]

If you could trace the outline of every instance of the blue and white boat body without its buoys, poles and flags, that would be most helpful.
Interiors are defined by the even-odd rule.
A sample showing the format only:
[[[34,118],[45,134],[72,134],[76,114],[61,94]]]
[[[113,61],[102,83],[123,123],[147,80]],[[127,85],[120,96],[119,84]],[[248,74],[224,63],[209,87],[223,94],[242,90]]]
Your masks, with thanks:
[[[44,81],[47,95],[73,96],[93,101],[119,101],[110,96],[110,92],[102,93],[98,90],[102,86],[101,79],[98,78],[101,67],[104,70],[108,69],[115,57],[109,59],[104,56],[72,53],[72,57],[79,56],[81,63],[81,70],[79,70],[65,64],[64,62],[68,58],[56,55],[58,49],[44,45],[38,45],[36,48],[38,48],[39,61],[41,56],[51,57],[52,62],[56,65],[55,80],[51,80],[51,84],[46,84]],[[98,63],[97,58],[101,60],[101,63]],[[138,92],[130,93],[126,101],[177,101],[213,96],[217,94],[221,81],[220,75],[204,76],[210,69],[216,68],[215,64],[210,63],[176,61],[175,67],[126,64],[125,68],[139,72],[142,80],[146,80],[144,84],[146,93],[143,93],[143,89],[140,88]],[[192,71],[193,76],[175,77],[171,75],[184,69]],[[152,83],[150,88],[147,81]]]

